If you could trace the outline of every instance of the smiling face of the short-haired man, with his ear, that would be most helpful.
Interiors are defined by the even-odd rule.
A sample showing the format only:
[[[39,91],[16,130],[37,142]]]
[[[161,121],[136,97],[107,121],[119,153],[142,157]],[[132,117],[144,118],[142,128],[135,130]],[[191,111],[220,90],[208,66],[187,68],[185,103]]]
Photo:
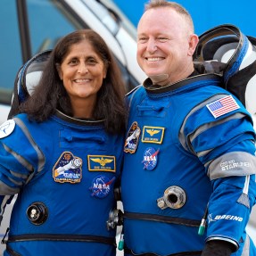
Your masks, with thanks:
[[[137,62],[153,83],[167,85],[189,76],[198,37],[187,18],[169,7],[149,9],[137,27]]]

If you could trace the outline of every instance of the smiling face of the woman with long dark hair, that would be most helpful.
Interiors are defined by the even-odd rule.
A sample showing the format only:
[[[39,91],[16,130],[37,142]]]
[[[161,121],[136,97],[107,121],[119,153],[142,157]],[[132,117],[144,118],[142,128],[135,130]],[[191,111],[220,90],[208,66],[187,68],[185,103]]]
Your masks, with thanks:
[[[70,46],[69,53],[57,69],[72,106],[81,100],[95,104],[97,92],[106,78],[106,67],[86,39]]]

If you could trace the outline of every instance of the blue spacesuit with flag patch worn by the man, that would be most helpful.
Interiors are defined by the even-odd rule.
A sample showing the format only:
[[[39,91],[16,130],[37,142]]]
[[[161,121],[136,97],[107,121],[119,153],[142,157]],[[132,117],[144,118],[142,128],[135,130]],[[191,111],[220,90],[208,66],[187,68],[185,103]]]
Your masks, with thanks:
[[[157,87],[148,78],[128,95],[125,255],[201,255],[216,239],[232,255],[256,255],[245,232],[256,197],[252,118],[220,82],[196,73]]]

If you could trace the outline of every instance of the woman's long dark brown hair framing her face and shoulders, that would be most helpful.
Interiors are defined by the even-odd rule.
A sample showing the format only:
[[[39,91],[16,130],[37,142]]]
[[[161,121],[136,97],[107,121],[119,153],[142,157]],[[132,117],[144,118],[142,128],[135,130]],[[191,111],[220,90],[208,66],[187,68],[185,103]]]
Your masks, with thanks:
[[[29,99],[21,104],[20,111],[26,112],[29,120],[37,122],[47,120],[56,110],[73,116],[70,97],[63,87],[57,65],[62,64],[70,52],[70,47],[82,40],[87,40],[93,46],[95,53],[101,57],[107,68],[103,86],[97,93],[93,119],[104,120],[106,130],[111,133],[121,132],[125,129],[127,115],[124,81],[110,49],[103,38],[92,29],[80,29],[62,37],[55,45],[37,87]]]

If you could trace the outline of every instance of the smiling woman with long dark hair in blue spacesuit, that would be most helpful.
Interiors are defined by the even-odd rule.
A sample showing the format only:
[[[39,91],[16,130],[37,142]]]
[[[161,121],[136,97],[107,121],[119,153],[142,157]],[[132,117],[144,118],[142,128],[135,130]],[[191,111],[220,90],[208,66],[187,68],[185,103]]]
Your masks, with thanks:
[[[106,221],[116,207],[126,109],[110,50],[93,30],[72,32],[22,102],[26,89],[21,83],[21,113],[0,127],[2,216],[18,194],[4,255],[116,255]]]

